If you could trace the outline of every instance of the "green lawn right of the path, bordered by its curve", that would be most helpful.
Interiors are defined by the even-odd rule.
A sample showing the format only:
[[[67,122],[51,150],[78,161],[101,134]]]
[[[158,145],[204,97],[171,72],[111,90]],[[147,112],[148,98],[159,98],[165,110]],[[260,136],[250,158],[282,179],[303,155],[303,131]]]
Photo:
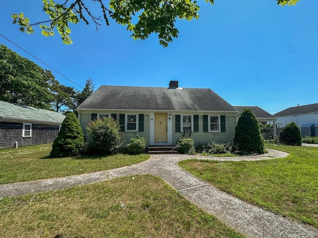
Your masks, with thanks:
[[[187,160],[179,165],[242,200],[318,228],[318,148],[266,148],[290,155],[255,162]]]

